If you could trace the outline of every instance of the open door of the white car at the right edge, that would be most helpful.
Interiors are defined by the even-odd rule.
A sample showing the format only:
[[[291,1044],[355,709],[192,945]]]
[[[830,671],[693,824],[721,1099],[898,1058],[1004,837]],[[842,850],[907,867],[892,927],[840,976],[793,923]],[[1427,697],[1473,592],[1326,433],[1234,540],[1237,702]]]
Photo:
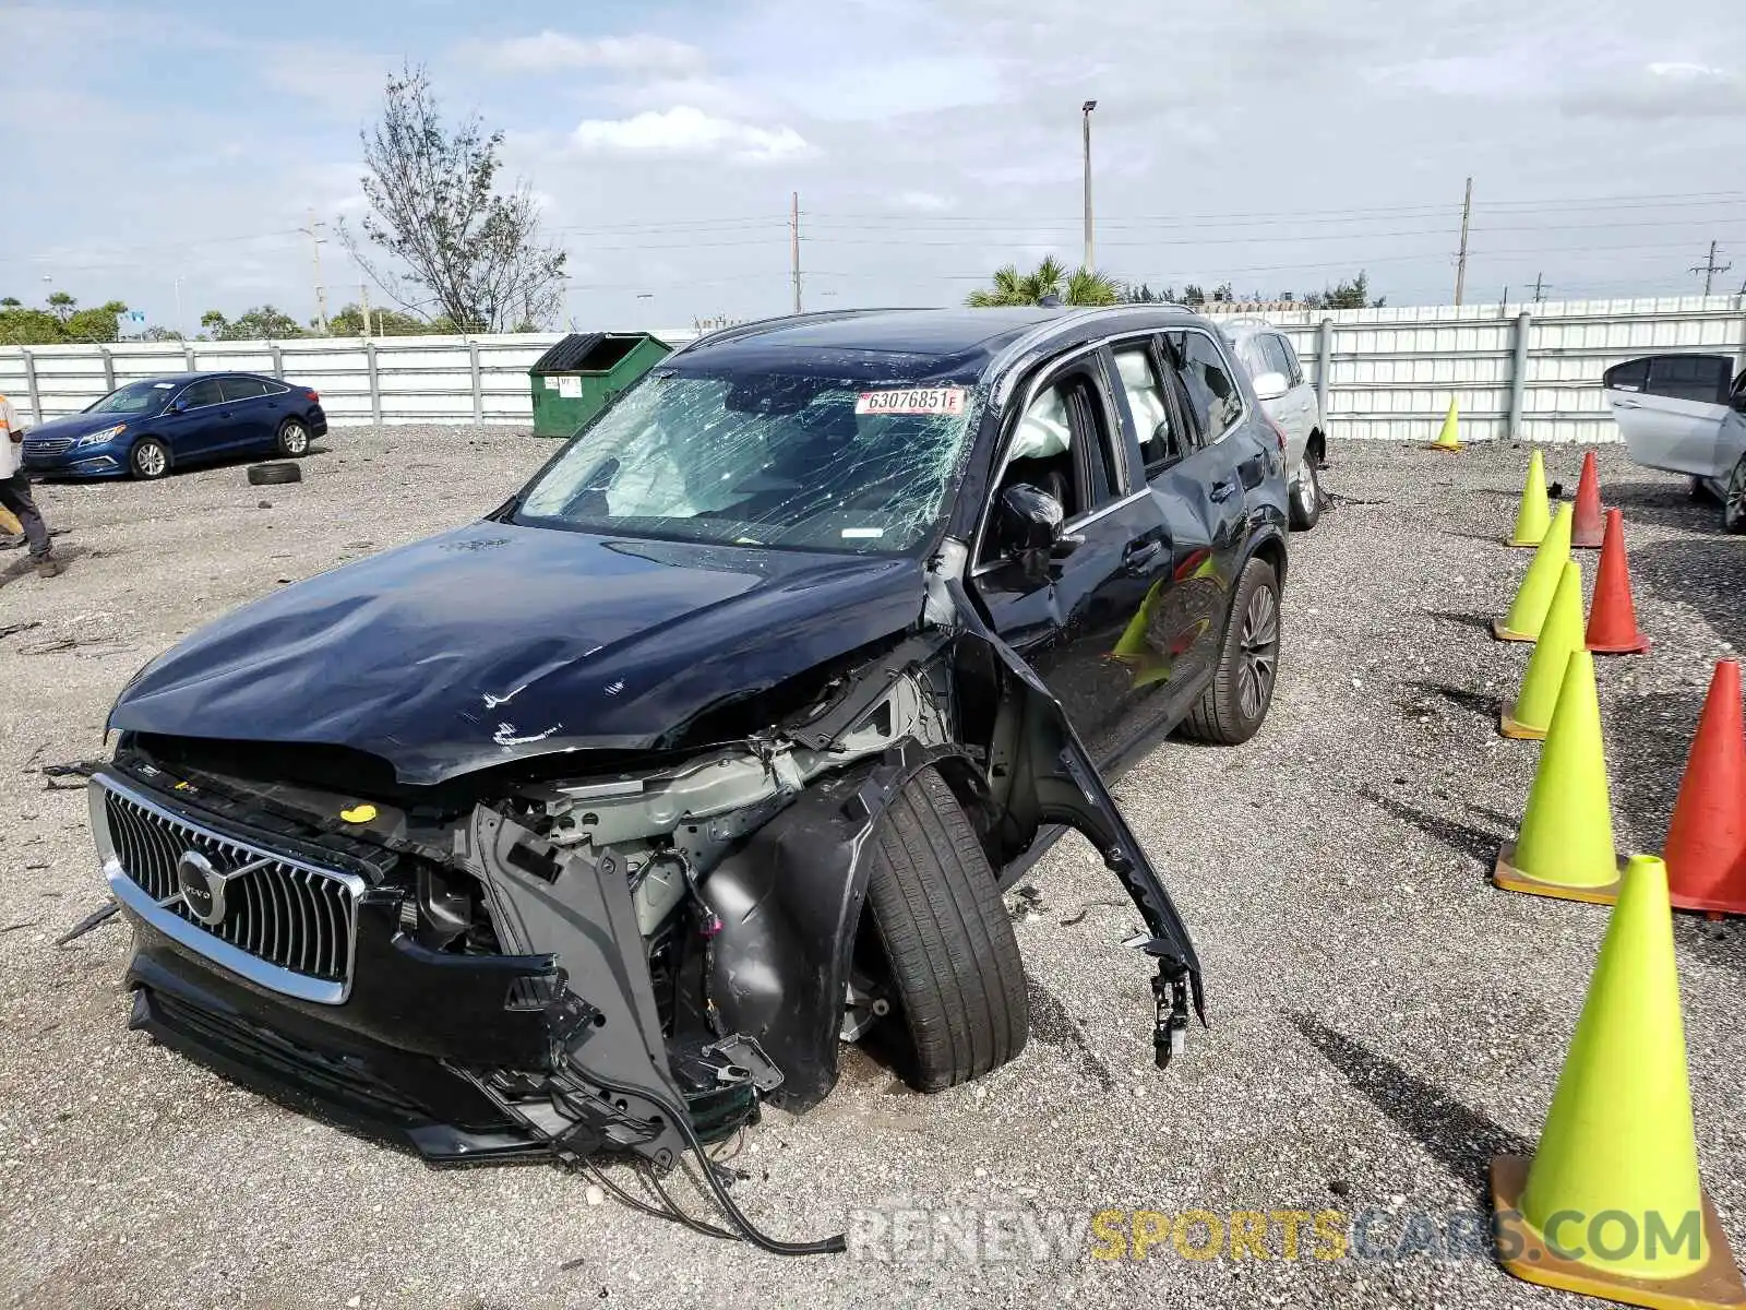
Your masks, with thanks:
[[[1673,473],[1727,477],[1734,466],[1723,440],[1734,416],[1732,372],[1727,355],[1648,355],[1608,369],[1601,386],[1631,459]]]

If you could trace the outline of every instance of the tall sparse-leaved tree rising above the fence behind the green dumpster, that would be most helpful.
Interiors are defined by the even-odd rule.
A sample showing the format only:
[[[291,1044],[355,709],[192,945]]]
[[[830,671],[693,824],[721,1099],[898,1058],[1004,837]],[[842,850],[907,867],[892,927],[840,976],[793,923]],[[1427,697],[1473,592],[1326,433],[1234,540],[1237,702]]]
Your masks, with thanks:
[[[477,114],[447,128],[423,65],[391,75],[384,101],[382,121],[358,133],[372,213],[361,236],[339,224],[358,267],[403,309],[430,318],[435,306],[463,332],[552,321],[566,255],[541,241],[526,182],[496,192],[503,133]]]

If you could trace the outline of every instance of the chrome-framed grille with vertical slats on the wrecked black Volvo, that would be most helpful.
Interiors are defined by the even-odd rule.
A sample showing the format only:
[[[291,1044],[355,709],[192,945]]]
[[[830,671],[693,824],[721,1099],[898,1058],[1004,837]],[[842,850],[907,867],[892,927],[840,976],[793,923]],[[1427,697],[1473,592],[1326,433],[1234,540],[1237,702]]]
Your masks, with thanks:
[[[112,777],[91,786],[105,872],[131,910],[264,987],[327,1004],[346,999],[363,879],[190,823]],[[178,861],[189,852],[225,880],[217,924],[199,920],[182,896]]]

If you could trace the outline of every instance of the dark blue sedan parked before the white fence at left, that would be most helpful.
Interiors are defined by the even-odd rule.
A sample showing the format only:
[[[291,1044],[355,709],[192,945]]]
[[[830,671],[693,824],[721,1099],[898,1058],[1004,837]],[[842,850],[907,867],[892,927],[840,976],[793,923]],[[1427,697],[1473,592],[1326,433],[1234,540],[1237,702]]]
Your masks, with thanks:
[[[169,374],[110,391],[24,433],[24,468],[59,477],[159,479],[244,454],[297,458],[327,435],[321,396],[255,374]]]

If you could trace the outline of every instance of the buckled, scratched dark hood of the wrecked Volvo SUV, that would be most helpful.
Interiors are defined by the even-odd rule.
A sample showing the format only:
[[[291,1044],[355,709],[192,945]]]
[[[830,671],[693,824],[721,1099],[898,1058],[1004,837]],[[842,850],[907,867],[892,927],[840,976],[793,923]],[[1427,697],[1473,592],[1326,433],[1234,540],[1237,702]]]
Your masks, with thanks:
[[[349,746],[402,783],[646,749],[920,617],[922,564],[478,522],[246,604],[148,664],[110,727]]]

